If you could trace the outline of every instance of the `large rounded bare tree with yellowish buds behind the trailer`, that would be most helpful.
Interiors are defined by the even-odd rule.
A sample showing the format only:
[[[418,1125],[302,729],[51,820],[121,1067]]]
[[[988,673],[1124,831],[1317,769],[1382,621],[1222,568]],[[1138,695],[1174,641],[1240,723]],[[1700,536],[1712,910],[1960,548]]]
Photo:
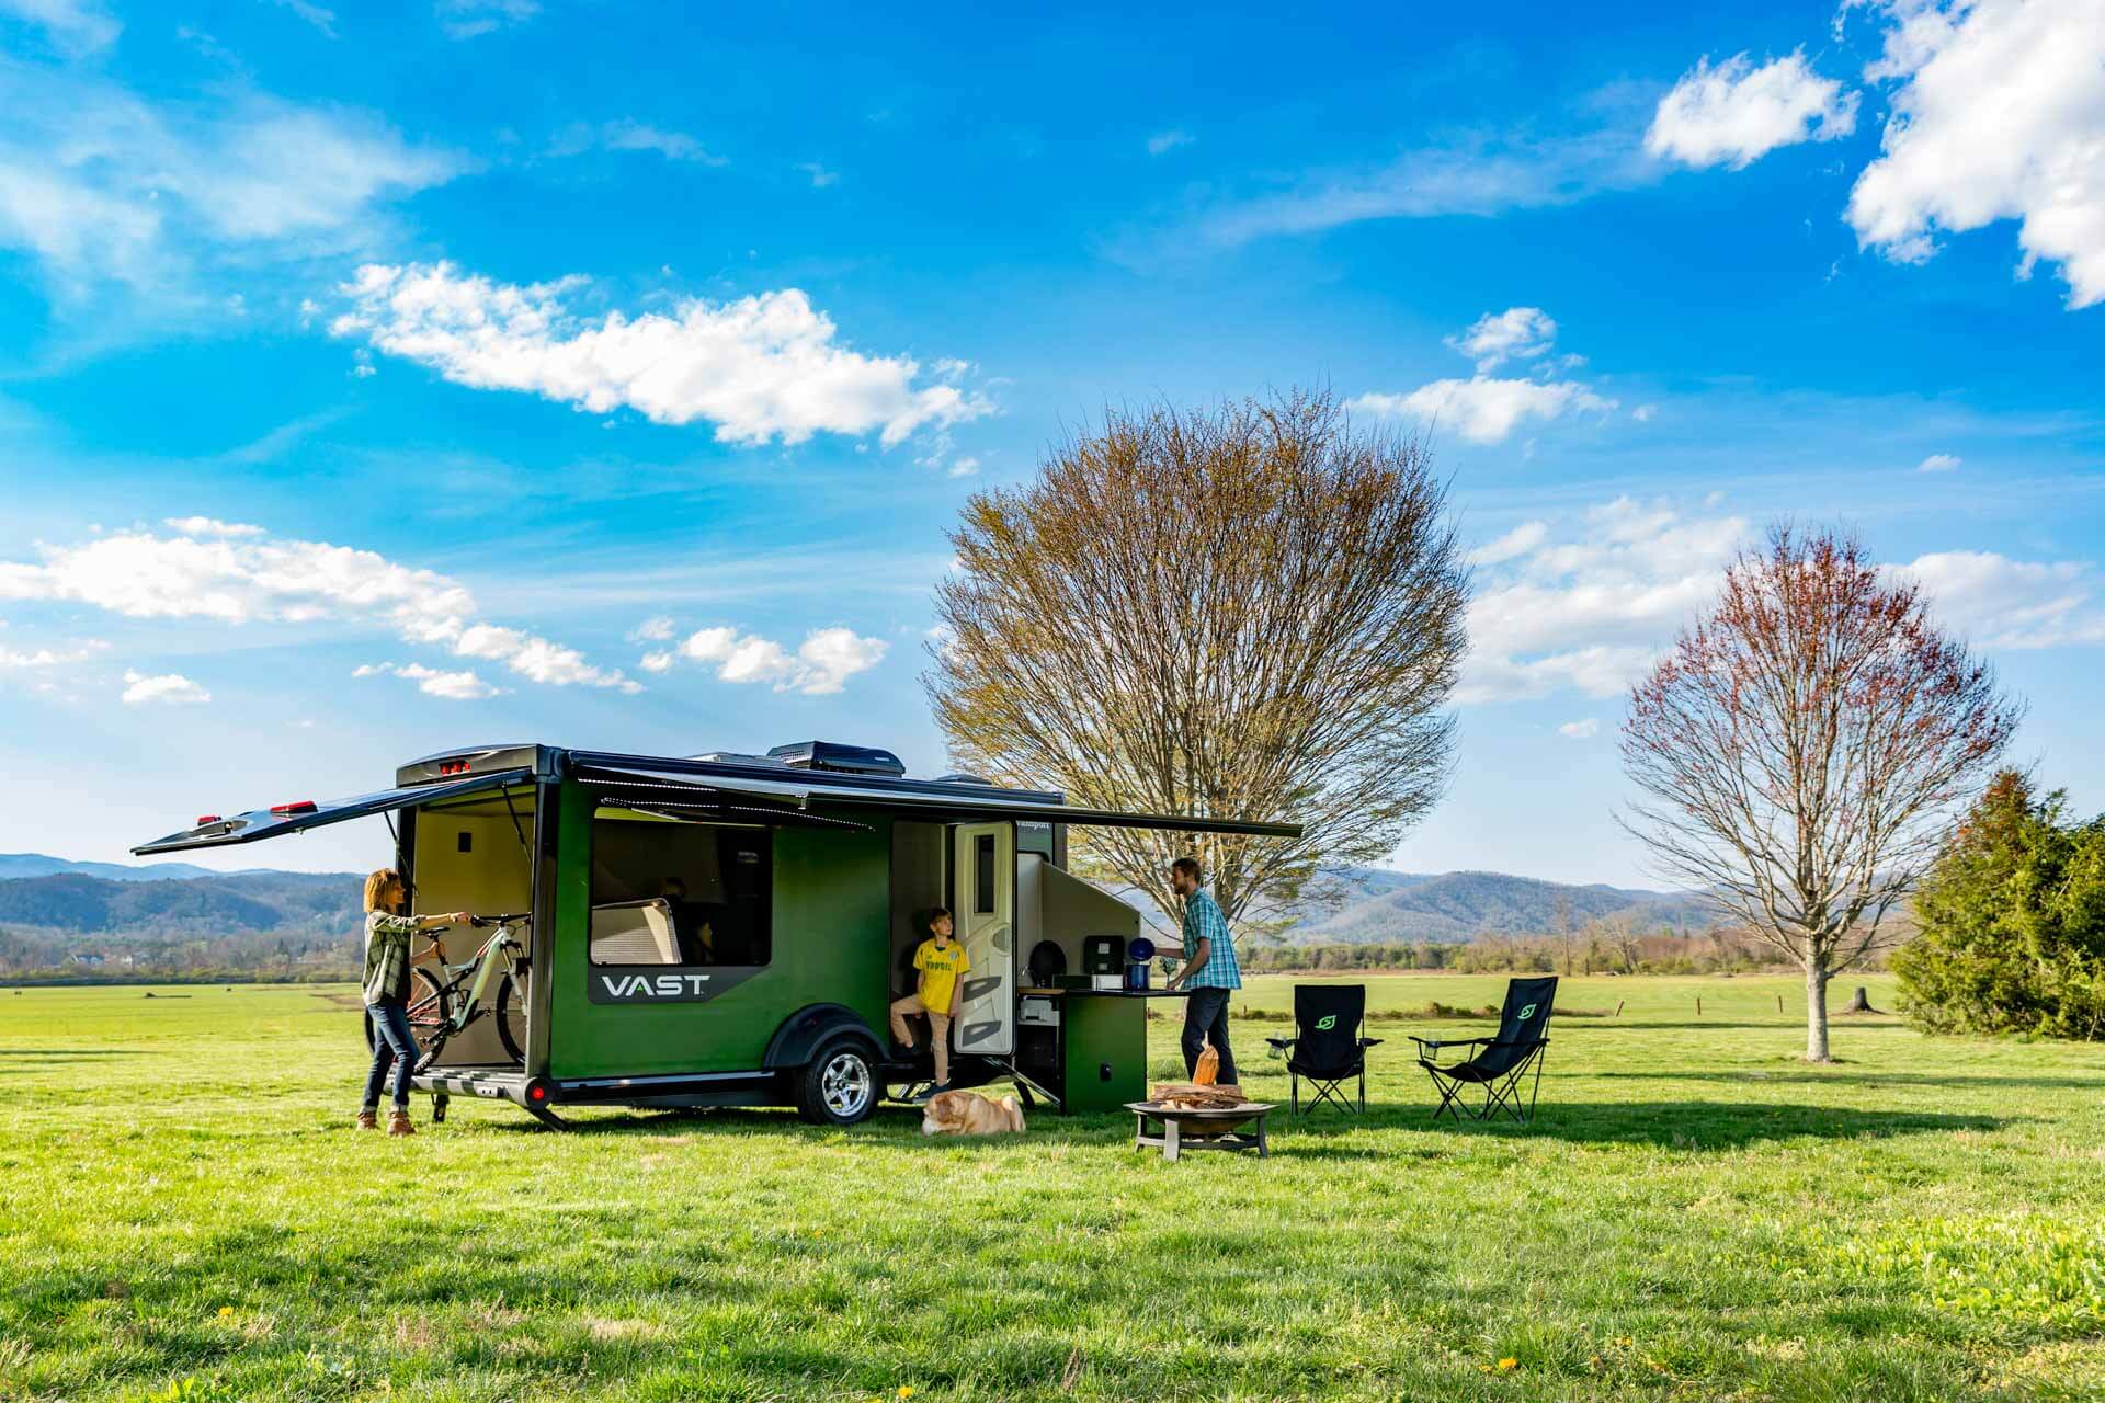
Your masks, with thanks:
[[[1076,804],[1282,818],[1303,837],[1090,829],[1145,892],[1196,852],[1231,921],[1396,850],[1440,797],[1467,572],[1417,442],[1328,393],[1116,412],[1023,488],[975,494],[922,679],[958,764]]]

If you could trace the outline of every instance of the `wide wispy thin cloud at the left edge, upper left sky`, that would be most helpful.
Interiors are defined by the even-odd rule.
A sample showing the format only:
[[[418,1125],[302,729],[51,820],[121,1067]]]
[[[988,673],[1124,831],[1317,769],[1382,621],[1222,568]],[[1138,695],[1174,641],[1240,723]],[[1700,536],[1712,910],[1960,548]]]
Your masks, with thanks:
[[[202,273],[343,257],[385,202],[459,170],[373,118],[248,90],[156,105],[6,57],[0,88],[0,246],[34,255],[69,303],[114,284],[225,316]]]

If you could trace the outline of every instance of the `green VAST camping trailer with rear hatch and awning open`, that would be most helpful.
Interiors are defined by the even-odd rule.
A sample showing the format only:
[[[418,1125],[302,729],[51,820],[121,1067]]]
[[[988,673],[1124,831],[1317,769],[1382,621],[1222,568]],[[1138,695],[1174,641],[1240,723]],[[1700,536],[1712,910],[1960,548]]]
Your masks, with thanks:
[[[930,1077],[899,1054],[930,907],[956,913],[970,976],[951,1083],[1103,1111],[1145,1094],[1160,989],[1088,974],[1139,915],[1065,871],[1074,825],[1299,837],[1290,822],[1084,810],[970,776],[907,778],[886,751],[657,757],[486,745],[410,761],[389,789],[290,801],[135,848],[253,843],[385,814],[417,913],[518,913],[518,961],[419,1071],[450,1096],[570,1106],[791,1104],[848,1125]],[[1111,944],[1116,949],[1116,944]],[[1046,982],[1038,970],[1061,968]],[[459,993],[455,995],[459,999]],[[482,1016],[490,1014],[490,1016]]]

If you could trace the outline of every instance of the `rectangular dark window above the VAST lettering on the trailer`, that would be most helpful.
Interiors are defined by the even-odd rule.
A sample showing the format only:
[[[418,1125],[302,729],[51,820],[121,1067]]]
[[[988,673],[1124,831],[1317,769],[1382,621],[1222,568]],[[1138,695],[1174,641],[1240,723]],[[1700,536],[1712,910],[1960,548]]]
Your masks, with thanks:
[[[773,835],[705,822],[592,822],[592,963],[764,965]]]

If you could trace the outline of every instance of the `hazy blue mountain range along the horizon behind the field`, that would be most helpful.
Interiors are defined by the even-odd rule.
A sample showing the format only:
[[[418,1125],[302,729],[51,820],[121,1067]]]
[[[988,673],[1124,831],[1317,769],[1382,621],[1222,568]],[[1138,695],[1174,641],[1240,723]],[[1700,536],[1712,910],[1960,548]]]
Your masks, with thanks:
[[[1579,930],[1627,919],[1648,932],[1709,930],[1692,894],[1566,886],[1505,873],[1351,869],[1335,909],[1290,909],[1286,940],[1438,940]],[[246,934],[337,936],[358,930],[356,873],[213,873],[187,862],[124,867],[0,854],[0,928],[99,938],[173,940]]]

